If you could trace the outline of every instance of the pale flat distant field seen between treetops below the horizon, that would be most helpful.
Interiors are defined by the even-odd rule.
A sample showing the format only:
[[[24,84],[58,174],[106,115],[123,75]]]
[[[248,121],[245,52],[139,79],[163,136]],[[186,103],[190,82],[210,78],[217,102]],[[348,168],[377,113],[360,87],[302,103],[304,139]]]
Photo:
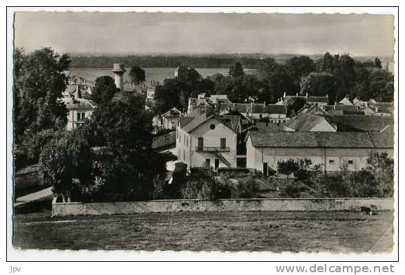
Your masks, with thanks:
[[[111,64],[111,69],[109,68],[70,68],[72,71],[72,75],[77,75],[79,77],[83,77],[89,81],[95,81],[97,77],[102,75],[110,75],[113,77],[113,73],[111,73],[113,64]],[[131,68],[126,68],[127,72],[124,74],[124,80],[130,81],[129,79],[129,70]],[[173,78],[174,71],[176,68],[143,68],[145,71],[146,82],[150,82],[151,80],[157,82],[163,82],[165,78]],[[222,73],[223,75],[227,75],[229,69],[227,68],[196,68],[198,73],[203,77],[207,77],[209,75],[214,75],[214,73]],[[255,69],[245,69],[246,73],[255,73]]]

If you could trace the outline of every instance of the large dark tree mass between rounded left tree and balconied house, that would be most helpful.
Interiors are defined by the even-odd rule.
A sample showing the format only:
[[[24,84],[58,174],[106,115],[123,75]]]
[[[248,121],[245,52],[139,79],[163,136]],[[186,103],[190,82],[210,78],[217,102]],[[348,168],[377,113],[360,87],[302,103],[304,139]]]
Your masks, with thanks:
[[[82,131],[99,150],[87,189],[91,200],[144,200],[166,176],[167,156],[151,149],[152,117],[141,97],[98,106]]]

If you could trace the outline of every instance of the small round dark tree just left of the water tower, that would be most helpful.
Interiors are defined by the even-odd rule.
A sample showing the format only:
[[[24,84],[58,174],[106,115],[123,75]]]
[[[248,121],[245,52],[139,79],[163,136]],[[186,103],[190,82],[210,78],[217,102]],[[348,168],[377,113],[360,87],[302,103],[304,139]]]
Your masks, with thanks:
[[[104,75],[102,77],[97,77],[95,79],[93,93],[91,94],[91,99],[95,104],[107,104],[111,102],[115,93],[117,93],[118,88],[115,86],[115,81],[113,77]]]

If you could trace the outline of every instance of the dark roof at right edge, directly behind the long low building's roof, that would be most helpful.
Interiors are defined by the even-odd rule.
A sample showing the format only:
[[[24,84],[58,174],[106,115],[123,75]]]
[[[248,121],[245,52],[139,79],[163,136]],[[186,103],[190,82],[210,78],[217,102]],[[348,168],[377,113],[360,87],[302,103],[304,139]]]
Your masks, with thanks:
[[[387,125],[394,124],[393,116],[374,115],[330,115],[330,120],[337,122],[337,130],[357,129],[358,131],[379,132]]]

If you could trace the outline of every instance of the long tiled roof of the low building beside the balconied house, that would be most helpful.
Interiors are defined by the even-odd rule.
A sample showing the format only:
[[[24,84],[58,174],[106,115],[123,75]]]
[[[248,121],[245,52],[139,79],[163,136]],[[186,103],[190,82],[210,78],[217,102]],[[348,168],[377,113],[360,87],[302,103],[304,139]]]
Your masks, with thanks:
[[[392,148],[384,133],[249,131],[249,136],[255,147]]]

